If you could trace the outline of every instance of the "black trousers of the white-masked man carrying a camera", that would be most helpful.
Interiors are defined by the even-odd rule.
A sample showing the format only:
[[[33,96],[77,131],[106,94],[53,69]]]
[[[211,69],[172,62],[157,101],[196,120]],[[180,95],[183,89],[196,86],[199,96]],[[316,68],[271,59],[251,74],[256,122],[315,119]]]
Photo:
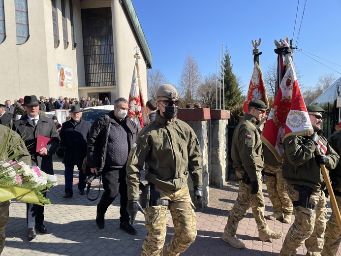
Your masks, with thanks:
[[[102,172],[102,183],[104,193],[97,204],[97,212],[105,214],[108,207],[115,200],[117,194],[120,192],[120,222],[129,222],[130,218],[126,211],[128,203],[127,185],[125,182],[126,171],[125,168],[107,168],[104,167]]]

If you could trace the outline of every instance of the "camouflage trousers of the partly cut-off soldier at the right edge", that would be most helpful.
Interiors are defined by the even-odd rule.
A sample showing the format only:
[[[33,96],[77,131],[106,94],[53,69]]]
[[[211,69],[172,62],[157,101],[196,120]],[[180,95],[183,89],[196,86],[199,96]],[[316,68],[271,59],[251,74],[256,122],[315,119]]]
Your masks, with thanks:
[[[335,195],[336,202],[338,203],[339,209],[341,209],[341,197]],[[322,256],[335,256],[338,253],[338,249],[341,242],[341,232],[339,224],[336,220],[334,211],[327,222],[326,232],[324,235],[324,246],[321,255]]]

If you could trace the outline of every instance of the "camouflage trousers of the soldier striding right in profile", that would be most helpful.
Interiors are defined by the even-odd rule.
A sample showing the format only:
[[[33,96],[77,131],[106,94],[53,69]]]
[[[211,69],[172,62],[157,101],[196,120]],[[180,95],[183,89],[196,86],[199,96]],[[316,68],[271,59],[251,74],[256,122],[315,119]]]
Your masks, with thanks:
[[[270,231],[266,220],[264,219],[265,201],[262,191],[261,172],[257,172],[259,190],[257,194],[251,194],[251,185],[239,181],[239,192],[236,202],[227,219],[224,234],[235,236],[239,222],[247,215],[251,206],[254,220],[256,221],[258,232],[268,233]]]

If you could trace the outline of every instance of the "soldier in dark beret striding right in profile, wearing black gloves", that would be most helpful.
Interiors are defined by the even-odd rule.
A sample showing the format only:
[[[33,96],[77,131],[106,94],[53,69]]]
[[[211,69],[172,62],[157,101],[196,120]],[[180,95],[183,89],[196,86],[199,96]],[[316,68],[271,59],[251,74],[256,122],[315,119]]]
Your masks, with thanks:
[[[267,105],[261,100],[252,100],[248,104],[248,113],[237,126],[232,137],[231,156],[233,168],[239,178],[239,192],[236,202],[229,214],[222,240],[239,249],[245,244],[236,237],[239,222],[252,208],[261,241],[270,238],[279,239],[282,232],[270,230],[264,219],[265,202],[262,189],[261,171],[263,170],[263,150],[260,135],[256,128],[260,119],[265,116]]]

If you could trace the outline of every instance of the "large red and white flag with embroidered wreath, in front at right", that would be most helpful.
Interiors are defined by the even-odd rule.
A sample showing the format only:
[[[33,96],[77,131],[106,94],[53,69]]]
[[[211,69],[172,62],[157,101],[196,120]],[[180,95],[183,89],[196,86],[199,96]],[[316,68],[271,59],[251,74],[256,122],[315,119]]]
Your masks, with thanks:
[[[281,161],[284,155],[282,141],[286,137],[294,134],[306,136],[312,133],[313,128],[290,57],[260,139],[276,159]]]

